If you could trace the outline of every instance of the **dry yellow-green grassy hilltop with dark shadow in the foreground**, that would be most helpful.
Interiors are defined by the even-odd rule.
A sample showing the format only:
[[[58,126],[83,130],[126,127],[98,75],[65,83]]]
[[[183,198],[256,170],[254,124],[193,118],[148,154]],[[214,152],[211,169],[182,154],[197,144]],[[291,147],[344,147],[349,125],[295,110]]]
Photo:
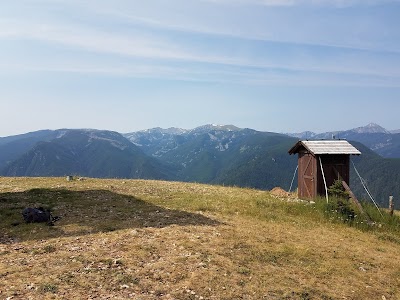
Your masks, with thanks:
[[[324,205],[280,190],[1,177],[0,299],[399,299],[398,218],[349,226]],[[24,224],[27,206],[62,219]]]

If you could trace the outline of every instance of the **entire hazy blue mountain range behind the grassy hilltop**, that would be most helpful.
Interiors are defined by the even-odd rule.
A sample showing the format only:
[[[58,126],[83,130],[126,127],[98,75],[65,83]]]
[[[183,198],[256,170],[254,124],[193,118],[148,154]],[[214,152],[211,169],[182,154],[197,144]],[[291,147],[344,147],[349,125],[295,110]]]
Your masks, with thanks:
[[[352,158],[381,203],[400,194],[400,134],[376,124],[323,134],[280,134],[233,125],[153,128],[120,134],[93,129],[42,130],[0,138],[0,175],[146,178],[289,189],[298,139],[346,138],[361,152]],[[351,186],[366,193],[352,170]],[[293,188],[296,187],[296,180]]]

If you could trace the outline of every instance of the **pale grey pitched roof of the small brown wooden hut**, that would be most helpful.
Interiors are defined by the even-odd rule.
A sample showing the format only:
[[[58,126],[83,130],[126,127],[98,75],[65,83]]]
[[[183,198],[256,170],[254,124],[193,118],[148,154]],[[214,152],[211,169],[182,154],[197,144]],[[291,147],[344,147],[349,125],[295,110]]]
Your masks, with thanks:
[[[353,145],[344,140],[325,140],[325,141],[298,141],[296,145],[289,150],[290,154],[297,153],[304,147],[313,154],[353,154],[360,155]]]

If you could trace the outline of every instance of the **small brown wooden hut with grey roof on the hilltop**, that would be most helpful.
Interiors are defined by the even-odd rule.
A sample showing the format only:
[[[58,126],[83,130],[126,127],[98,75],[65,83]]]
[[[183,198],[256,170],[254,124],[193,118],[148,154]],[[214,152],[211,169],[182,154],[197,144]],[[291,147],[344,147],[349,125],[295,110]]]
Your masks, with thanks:
[[[325,195],[336,179],[350,185],[350,155],[360,155],[344,140],[299,141],[289,154],[298,154],[298,195],[301,199]],[[322,168],[321,168],[322,167]]]

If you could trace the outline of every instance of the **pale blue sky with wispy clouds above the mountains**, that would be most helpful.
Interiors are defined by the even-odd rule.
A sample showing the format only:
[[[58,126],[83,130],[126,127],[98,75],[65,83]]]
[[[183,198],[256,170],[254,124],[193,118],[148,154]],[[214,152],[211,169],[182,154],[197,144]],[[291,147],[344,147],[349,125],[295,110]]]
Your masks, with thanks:
[[[0,137],[400,129],[400,0],[0,2]]]

